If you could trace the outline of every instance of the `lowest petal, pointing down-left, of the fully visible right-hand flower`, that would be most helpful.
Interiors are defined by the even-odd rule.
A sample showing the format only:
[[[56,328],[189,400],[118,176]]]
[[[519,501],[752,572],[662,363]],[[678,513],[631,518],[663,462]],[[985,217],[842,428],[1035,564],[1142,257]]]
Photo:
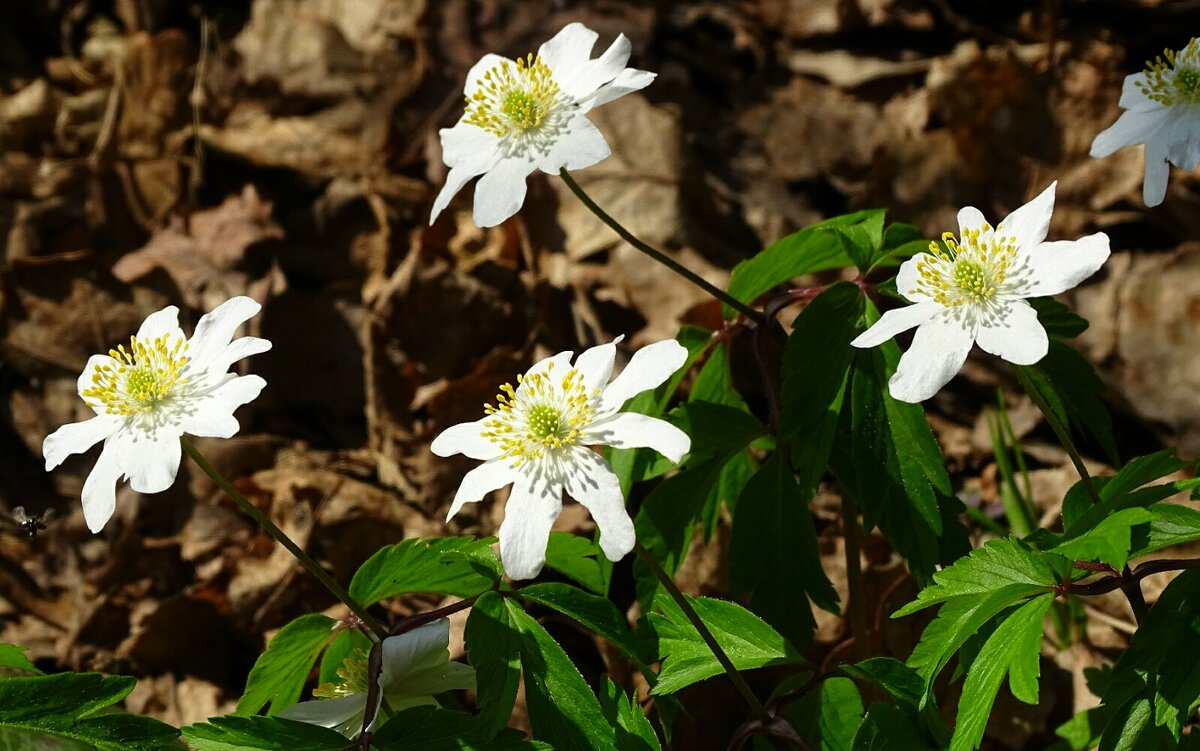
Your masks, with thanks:
[[[937,393],[962,367],[972,342],[973,329],[953,310],[920,324],[888,381],[893,398],[923,402]]]

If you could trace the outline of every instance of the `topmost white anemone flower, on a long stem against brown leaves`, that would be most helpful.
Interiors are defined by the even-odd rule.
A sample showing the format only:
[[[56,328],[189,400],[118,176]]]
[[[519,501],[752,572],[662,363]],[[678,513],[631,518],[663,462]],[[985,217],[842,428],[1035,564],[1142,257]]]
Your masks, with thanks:
[[[617,37],[592,59],[598,35],[570,24],[516,61],[484,55],[467,73],[467,110],[442,130],[442,155],[450,174],[433,202],[430,224],[475,175],[475,224],[493,227],[521,209],[526,178],[534,169],[558,174],[583,169],[611,152],[587,118],[588,110],[644,89],[654,73],[626,68],[630,43]]]

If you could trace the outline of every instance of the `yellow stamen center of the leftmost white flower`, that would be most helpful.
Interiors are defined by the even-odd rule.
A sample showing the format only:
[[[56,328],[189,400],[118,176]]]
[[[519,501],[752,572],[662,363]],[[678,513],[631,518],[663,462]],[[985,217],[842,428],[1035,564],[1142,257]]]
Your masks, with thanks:
[[[128,349],[119,344],[108,350],[113,362],[96,367],[82,396],[112,415],[149,411],[187,383],[186,352],[187,342],[166,334],[149,341],[131,336]]]

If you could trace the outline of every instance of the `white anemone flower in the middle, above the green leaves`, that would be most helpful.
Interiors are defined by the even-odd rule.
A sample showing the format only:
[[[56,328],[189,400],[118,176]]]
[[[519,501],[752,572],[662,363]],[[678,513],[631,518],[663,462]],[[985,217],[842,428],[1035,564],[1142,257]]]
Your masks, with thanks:
[[[618,411],[631,396],[678,371],[688,350],[674,340],[648,344],[608,383],[622,338],[584,350],[575,365],[570,352],[541,360],[517,377],[516,389],[500,386],[497,405],[485,405],[482,420],[446,428],[433,440],[438,456],[484,461],[462,479],[448,519],[463,504],[512,483],[500,524],[500,559],[514,579],[538,576],[546,563],[564,491],[592,513],[608,560],[634,548],[634,522],[617,475],[588,446],[647,446],[672,462],[691,447],[688,434],[665,420]]]

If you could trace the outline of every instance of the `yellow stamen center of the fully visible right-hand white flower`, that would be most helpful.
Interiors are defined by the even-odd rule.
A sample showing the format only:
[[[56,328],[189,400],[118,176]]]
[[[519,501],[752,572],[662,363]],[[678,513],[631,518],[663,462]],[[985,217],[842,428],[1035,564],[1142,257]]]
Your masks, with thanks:
[[[996,296],[1016,257],[1016,240],[997,235],[990,224],[966,229],[959,244],[952,233],[942,235],[917,260],[917,290],[947,307],[982,305]]]

